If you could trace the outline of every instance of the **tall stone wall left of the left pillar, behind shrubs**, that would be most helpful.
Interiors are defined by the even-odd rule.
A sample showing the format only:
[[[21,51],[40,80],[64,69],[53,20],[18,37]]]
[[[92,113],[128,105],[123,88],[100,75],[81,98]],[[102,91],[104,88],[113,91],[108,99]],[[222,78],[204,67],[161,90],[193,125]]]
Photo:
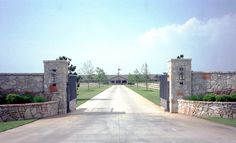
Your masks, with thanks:
[[[0,90],[43,93],[43,74],[1,73]]]

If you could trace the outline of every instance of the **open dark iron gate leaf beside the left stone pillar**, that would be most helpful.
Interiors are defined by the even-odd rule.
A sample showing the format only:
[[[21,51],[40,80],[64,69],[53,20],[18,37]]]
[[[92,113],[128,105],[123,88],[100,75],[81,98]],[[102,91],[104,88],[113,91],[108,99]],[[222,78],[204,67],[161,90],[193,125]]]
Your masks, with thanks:
[[[76,97],[77,97],[77,76],[69,75],[67,83],[67,113],[71,112],[70,101],[76,99]]]

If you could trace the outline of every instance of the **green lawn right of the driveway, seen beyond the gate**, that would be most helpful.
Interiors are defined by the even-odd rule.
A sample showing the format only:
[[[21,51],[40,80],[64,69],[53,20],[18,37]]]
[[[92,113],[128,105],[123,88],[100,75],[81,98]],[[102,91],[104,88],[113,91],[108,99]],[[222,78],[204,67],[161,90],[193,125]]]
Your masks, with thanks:
[[[136,93],[142,95],[144,98],[160,106],[160,91],[158,89],[148,89],[145,87],[127,86]]]

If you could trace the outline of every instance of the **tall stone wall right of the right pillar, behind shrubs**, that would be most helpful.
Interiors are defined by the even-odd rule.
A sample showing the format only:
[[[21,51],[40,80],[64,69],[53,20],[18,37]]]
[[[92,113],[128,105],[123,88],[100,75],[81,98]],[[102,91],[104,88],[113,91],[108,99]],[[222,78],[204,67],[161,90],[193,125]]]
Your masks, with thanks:
[[[192,95],[224,90],[226,93],[236,90],[236,72],[192,73]]]

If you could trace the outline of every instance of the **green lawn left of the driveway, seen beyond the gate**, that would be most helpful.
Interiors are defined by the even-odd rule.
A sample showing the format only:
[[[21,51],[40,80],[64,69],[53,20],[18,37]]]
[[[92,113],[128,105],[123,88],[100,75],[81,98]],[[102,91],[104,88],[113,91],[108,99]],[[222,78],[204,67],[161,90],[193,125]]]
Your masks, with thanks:
[[[93,98],[97,94],[101,93],[105,89],[111,87],[111,85],[101,85],[99,88],[98,86],[90,87],[88,90],[87,86],[79,87],[78,96],[77,96],[77,106],[85,103],[89,99]]]

